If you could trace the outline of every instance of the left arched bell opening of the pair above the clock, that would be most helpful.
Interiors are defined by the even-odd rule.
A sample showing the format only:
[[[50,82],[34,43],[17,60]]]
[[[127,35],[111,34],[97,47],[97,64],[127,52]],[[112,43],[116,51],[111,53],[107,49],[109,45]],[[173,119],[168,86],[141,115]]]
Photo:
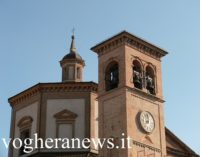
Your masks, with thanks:
[[[142,68],[137,60],[133,61],[133,83],[135,88],[142,89]]]

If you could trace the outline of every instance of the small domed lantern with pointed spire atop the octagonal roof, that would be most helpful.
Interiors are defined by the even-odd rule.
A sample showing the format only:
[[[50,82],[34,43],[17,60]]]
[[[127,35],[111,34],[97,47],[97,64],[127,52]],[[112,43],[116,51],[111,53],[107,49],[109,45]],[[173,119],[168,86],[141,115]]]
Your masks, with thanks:
[[[60,61],[62,67],[62,82],[83,81],[83,68],[85,62],[77,53],[75,46],[75,36],[72,35],[70,52]]]

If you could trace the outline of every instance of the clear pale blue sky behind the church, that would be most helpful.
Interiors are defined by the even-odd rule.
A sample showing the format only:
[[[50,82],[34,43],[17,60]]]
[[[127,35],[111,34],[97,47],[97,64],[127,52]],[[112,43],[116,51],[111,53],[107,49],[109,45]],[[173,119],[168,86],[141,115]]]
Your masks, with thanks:
[[[199,0],[0,0],[0,139],[9,137],[9,97],[61,81],[59,61],[73,28],[84,80],[95,82],[90,48],[127,30],[169,52],[162,59],[165,125],[200,154],[199,7]],[[0,157],[6,156],[0,140]]]

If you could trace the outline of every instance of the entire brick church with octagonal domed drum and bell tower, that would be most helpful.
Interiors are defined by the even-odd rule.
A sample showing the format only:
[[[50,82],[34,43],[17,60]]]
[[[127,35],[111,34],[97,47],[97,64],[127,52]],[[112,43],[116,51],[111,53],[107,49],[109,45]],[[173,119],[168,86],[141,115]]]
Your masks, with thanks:
[[[122,31],[91,48],[98,84],[83,80],[85,61],[72,35],[62,81],[38,83],[9,98],[10,138],[131,138],[132,148],[9,148],[9,157],[199,157],[165,127],[161,59],[168,53]]]

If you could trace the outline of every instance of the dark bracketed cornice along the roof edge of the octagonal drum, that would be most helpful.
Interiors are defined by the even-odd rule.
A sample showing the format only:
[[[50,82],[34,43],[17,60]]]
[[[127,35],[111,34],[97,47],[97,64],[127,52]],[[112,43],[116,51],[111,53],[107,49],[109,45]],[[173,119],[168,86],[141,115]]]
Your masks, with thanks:
[[[8,102],[11,106],[19,104],[43,92],[94,92],[97,93],[98,85],[94,82],[60,82],[38,83],[25,91],[11,97]]]

